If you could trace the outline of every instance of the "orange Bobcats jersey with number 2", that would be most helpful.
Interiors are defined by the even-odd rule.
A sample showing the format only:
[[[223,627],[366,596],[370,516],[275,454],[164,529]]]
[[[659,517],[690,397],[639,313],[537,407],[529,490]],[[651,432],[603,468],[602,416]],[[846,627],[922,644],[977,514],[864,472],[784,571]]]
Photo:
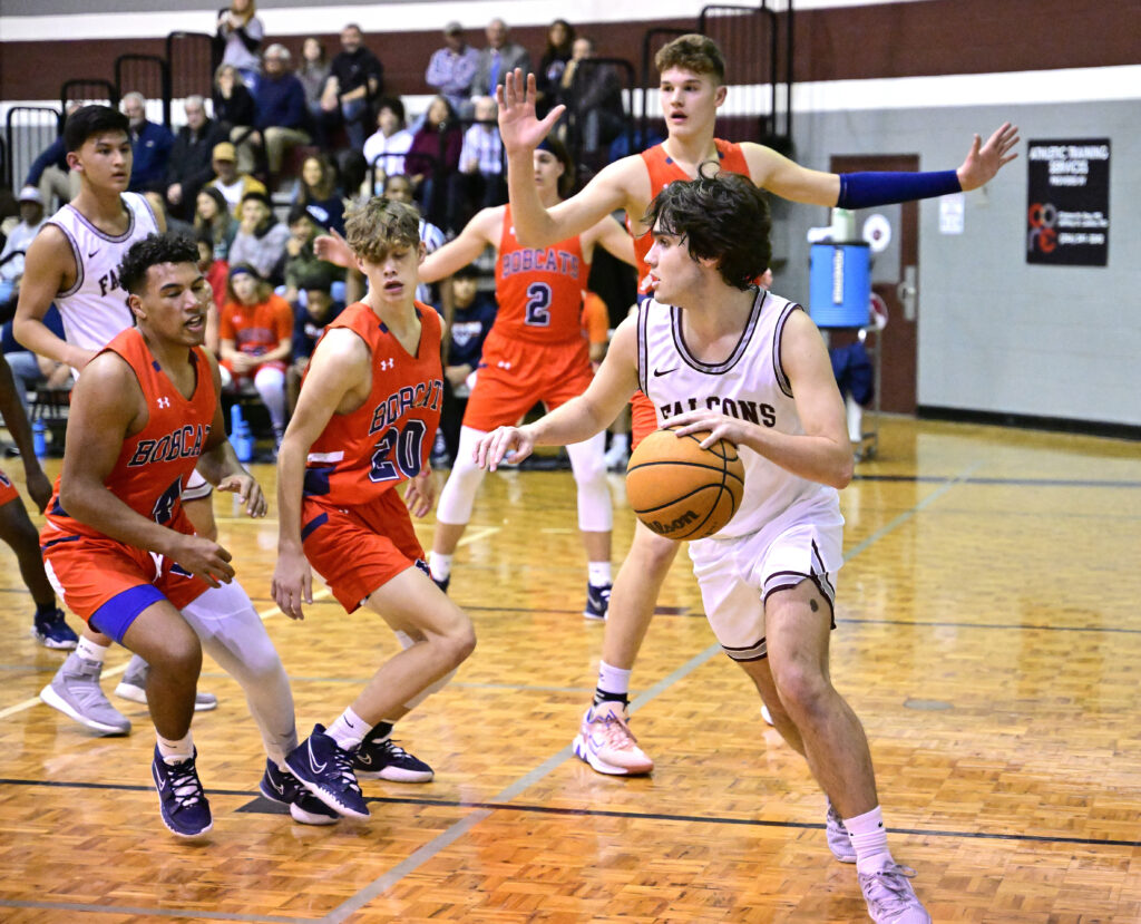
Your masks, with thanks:
[[[525,248],[515,236],[511,206],[503,209],[503,234],[495,264],[499,314],[493,327],[512,340],[561,343],[582,340],[582,290],[590,264],[578,236],[549,248]]]

